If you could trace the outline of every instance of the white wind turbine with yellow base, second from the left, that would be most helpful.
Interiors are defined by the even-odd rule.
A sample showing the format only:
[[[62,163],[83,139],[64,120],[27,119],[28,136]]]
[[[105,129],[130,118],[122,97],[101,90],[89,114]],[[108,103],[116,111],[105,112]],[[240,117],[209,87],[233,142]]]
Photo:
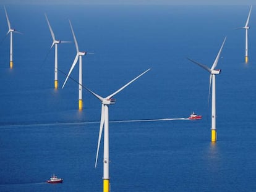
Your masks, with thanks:
[[[70,41],[56,40],[55,35],[53,33],[53,29],[51,28],[51,25],[49,23],[49,20],[48,20],[48,17],[47,17],[46,14],[45,14],[45,18],[46,18],[46,21],[48,23],[49,30],[51,32],[51,37],[53,38],[53,44],[51,44],[51,48],[53,48],[53,46],[55,45],[54,88],[58,89],[58,85],[59,85],[59,83],[58,83],[58,44],[60,44],[60,43],[71,43],[71,42]]]

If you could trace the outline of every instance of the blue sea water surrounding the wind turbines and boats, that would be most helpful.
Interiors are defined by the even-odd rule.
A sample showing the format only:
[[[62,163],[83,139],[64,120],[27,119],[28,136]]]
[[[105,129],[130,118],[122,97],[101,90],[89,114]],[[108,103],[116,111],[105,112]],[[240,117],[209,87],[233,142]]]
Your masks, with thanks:
[[[255,191],[256,34],[254,9],[249,63],[243,27],[248,6],[6,6],[14,34],[14,68],[0,10],[0,191],[102,191],[95,169],[100,102],[67,81],[54,90],[57,39],[73,41],[83,57],[83,85],[108,96],[129,85],[109,107],[111,191]],[[6,38],[5,38],[6,36]],[[227,37],[216,76],[218,141],[210,142],[208,73],[186,57],[213,64]],[[75,46],[59,45],[59,69],[68,72]],[[78,79],[78,66],[71,75]],[[59,84],[65,80],[59,73]],[[202,120],[122,122],[186,118]],[[118,122],[116,122],[118,121]],[[101,143],[99,159],[103,158]],[[55,173],[64,182],[45,181]]]

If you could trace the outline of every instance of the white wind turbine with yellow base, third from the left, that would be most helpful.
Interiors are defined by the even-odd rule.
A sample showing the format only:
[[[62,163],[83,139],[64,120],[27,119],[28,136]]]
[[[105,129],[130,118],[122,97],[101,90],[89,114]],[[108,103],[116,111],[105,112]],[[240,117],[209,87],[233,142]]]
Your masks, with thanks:
[[[74,62],[69,70],[69,74],[67,75],[67,78],[66,80],[64,81],[64,84],[62,86],[62,89],[64,88],[66,82],[67,82],[67,79],[69,78],[69,75],[70,73],[72,72],[72,70],[74,69],[75,65],[77,64],[77,61],[79,59],[79,110],[82,110],[83,109],[83,93],[82,93],[82,85],[83,85],[83,81],[82,81],[82,56],[85,56],[87,54],[87,52],[82,52],[82,51],[79,51],[79,46],[77,44],[77,39],[75,38],[75,33],[74,33],[74,30],[72,28],[72,24],[69,20],[69,24],[70,24],[70,28],[71,28],[71,31],[72,31],[72,34],[73,34],[73,37],[74,37],[74,41],[75,41],[75,48],[77,49],[77,54],[75,56],[75,59],[74,59]]]

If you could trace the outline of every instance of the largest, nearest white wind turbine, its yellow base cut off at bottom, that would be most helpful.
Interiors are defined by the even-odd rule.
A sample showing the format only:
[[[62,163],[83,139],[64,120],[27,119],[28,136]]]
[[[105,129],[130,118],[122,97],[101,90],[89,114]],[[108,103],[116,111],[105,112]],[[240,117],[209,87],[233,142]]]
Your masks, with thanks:
[[[122,91],[124,88],[126,88],[130,83],[134,82],[138,78],[140,78],[142,75],[147,73],[150,69],[146,70],[145,72],[141,73],[139,76],[134,78],[133,80],[129,81],[126,85],[122,86],[119,90],[115,91],[114,93],[110,94],[106,98],[103,98],[99,96],[98,94],[94,93],[93,91],[87,89],[92,93],[96,98],[98,98],[101,102],[101,120],[100,120],[100,131],[99,131],[99,138],[98,138],[98,146],[97,146],[97,152],[96,152],[96,161],[95,161],[95,167],[97,165],[98,161],[98,152],[100,149],[100,140],[101,140],[101,134],[103,131],[103,125],[104,125],[104,155],[103,155],[103,192],[109,192],[109,119],[108,119],[108,106],[110,104],[115,104],[116,100],[113,99],[113,96],[115,96],[117,93]]]

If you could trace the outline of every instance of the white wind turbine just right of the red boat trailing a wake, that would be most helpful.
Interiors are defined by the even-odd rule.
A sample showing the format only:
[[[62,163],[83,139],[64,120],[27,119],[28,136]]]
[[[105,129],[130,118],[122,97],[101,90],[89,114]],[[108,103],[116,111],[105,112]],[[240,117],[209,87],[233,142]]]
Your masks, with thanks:
[[[218,60],[220,58],[221,51],[223,49],[224,43],[226,41],[226,37],[224,38],[224,41],[221,45],[220,51],[218,52],[218,55],[216,56],[215,61],[213,62],[213,65],[211,66],[211,69],[208,68],[206,65],[200,64],[197,61],[194,61],[192,59],[189,59],[189,61],[194,62],[195,64],[199,65],[203,69],[207,70],[210,73],[210,84],[209,84],[209,96],[210,96],[210,89],[211,89],[211,81],[212,81],[212,91],[211,91],[211,142],[216,142],[217,139],[217,133],[216,133],[216,83],[215,83],[215,75],[218,75],[221,73],[220,69],[215,69],[215,67],[218,64]],[[208,96],[208,99],[209,99]]]

